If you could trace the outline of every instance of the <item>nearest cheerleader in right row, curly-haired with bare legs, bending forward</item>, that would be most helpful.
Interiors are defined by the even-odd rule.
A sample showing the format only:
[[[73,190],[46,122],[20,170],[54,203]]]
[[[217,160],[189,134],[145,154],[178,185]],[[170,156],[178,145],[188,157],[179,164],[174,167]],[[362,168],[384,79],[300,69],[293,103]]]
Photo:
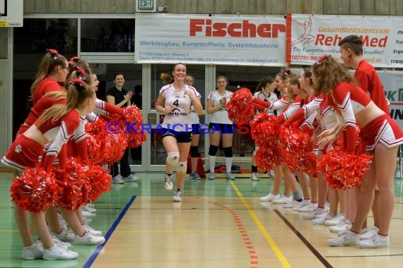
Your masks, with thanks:
[[[403,143],[402,130],[363,90],[352,83],[346,68],[332,56],[322,56],[320,61],[313,64],[313,81],[317,94],[325,94],[345,128],[345,150],[355,152],[358,125],[368,154],[373,154],[370,169],[361,185],[356,187],[357,212],[353,226],[343,236],[329,239],[328,243],[336,246],[387,248],[390,246],[388,235],[394,206],[393,178],[397,148]],[[329,140],[329,136],[322,136],[320,142],[325,145],[332,140]],[[375,185],[379,188],[382,203],[379,231],[373,238],[358,240],[358,233],[373,204]]]

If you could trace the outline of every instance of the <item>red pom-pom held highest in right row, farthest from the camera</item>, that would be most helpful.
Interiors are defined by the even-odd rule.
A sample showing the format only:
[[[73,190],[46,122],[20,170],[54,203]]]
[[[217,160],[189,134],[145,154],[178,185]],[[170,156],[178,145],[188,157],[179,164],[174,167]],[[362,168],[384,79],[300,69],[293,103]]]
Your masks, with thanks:
[[[255,108],[252,105],[252,93],[246,87],[237,90],[227,103],[228,118],[233,123],[243,123],[250,121]]]

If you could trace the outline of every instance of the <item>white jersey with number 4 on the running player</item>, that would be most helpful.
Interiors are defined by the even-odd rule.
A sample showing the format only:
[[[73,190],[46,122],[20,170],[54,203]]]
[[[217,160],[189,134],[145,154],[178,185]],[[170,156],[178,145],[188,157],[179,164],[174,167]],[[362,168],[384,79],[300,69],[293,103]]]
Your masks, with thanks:
[[[192,99],[185,95],[186,90],[193,92],[194,96],[199,95],[199,92],[189,85],[184,85],[180,92],[175,92],[174,84],[161,87],[160,95],[165,98],[164,106],[173,106],[172,113],[164,116],[163,128],[182,132],[192,130],[192,118],[190,117]]]

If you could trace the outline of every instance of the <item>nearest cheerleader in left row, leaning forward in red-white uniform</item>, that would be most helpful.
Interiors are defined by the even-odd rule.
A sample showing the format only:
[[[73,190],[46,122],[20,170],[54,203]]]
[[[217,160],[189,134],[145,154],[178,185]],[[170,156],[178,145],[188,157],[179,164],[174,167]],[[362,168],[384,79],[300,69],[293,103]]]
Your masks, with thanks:
[[[83,129],[78,128],[80,115],[86,114],[95,106],[94,92],[88,90],[86,86],[81,86],[82,80],[76,81],[76,83],[76,85],[69,86],[69,102],[65,105],[54,105],[42,113],[33,126],[30,126],[13,142],[11,148],[1,159],[3,164],[18,171],[24,171],[27,166],[35,168],[39,156],[42,155],[45,145],[49,142],[50,146],[46,151],[45,159],[42,159],[42,166],[49,169],[57,156],[59,156],[59,164],[64,164],[64,155],[60,153],[62,146],[73,133],[77,132],[77,137],[81,136],[79,133],[83,132]],[[86,147],[83,143],[78,142],[77,146],[81,148],[79,152],[86,154]],[[25,245],[24,259],[33,260],[42,257],[45,260],[70,260],[78,256],[78,253],[54,244],[47,229],[44,212],[31,213],[31,215],[44,249],[38,244],[25,245],[25,241],[23,241]],[[21,237],[23,238],[25,235],[21,234]]]

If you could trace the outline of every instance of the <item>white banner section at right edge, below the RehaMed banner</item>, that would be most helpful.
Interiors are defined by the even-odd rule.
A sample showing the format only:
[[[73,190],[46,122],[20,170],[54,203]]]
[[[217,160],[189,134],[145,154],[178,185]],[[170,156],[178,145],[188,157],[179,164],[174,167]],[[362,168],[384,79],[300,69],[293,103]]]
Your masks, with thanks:
[[[390,102],[390,116],[403,129],[403,72],[378,71],[385,96]]]

